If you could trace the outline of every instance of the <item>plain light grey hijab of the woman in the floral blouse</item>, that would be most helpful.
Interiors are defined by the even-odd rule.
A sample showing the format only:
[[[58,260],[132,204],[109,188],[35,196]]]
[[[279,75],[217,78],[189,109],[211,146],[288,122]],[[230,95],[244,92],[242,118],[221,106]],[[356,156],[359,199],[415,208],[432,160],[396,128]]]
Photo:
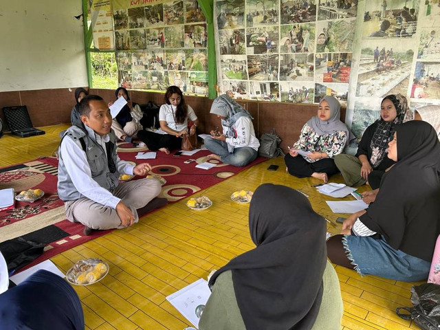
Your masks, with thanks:
[[[331,111],[329,120],[323,122],[319,119],[317,115],[314,115],[314,117],[309,119],[307,125],[309,125],[318,135],[332,134],[336,133],[337,131],[344,131],[347,135],[347,144],[349,144],[349,142],[354,138],[354,135],[339,119],[341,115],[341,105],[339,104],[339,101],[336,100],[336,98],[334,98],[333,96],[324,96],[319,101],[319,105],[321,105],[322,101],[327,101],[327,103],[329,103]]]

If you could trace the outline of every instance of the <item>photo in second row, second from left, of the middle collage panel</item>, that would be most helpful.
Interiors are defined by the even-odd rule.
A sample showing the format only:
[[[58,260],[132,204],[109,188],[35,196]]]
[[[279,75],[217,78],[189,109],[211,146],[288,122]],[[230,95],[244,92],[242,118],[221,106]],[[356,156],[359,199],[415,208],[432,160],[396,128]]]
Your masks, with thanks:
[[[250,28],[246,30],[247,54],[278,52],[278,26]]]

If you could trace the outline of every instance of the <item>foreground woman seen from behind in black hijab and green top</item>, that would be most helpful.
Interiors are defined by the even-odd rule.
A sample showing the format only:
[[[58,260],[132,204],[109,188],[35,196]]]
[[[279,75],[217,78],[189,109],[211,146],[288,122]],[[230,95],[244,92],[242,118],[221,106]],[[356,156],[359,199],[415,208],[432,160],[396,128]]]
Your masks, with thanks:
[[[249,227],[256,248],[214,273],[200,330],[340,329],[338,277],[326,261],[325,220],[298,191],[256,189]]]

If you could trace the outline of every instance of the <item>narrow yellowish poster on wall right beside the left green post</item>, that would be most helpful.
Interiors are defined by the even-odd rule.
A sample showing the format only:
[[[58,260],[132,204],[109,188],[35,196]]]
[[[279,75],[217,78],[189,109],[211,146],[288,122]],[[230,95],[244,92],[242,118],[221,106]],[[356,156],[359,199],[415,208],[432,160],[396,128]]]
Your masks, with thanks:
[[[98,50],[114,50],[110,0],[94,0],[91,3],[90,12],[94,47]]]

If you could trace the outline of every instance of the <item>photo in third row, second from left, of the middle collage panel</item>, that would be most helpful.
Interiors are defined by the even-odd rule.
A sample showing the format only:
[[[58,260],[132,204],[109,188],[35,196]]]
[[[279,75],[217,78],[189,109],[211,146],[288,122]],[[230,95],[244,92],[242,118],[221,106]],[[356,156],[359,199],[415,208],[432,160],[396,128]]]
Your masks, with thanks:
[[[248,55],[249,80],[278,80],[278,54]]]

